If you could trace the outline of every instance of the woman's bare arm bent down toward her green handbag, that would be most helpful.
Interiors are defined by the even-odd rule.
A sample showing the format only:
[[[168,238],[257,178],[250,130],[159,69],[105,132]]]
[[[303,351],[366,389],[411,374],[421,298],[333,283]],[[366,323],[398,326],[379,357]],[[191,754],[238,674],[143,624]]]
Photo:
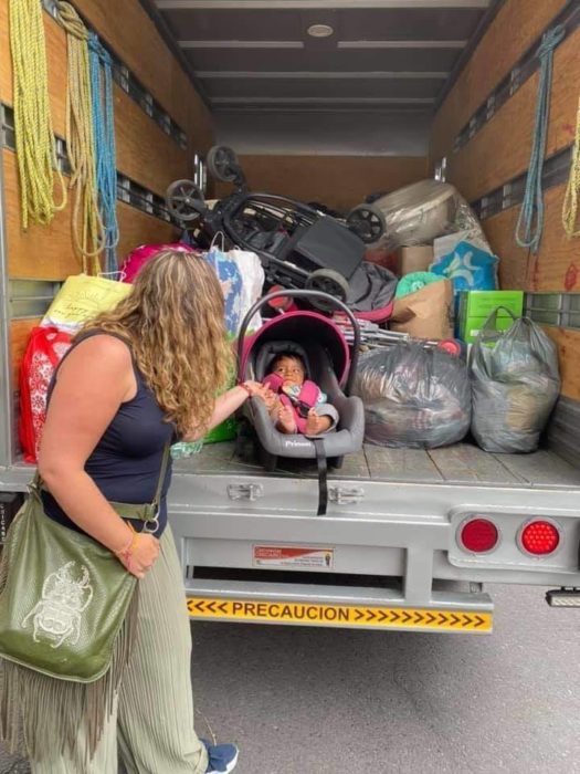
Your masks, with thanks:
[[[59,505],[115,553],[131,545],[131,530],[84,467],[120,404],[136,389],[130,353],[123,342],[97,335],[78,344],[59,370],[39,454],[39,472]],[[133,546],[134,561],[123,563],[141,577],[157,556],[157,543],[150,535],[140,536]]]

